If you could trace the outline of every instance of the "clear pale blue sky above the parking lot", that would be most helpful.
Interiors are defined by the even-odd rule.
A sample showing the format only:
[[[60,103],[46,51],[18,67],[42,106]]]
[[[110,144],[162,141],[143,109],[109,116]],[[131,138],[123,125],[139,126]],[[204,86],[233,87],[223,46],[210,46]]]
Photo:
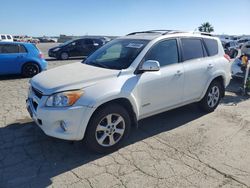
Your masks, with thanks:
[[[210,22],[216,34],[250,34],[250,0],[0,0],[0,33],[111,35]]]

